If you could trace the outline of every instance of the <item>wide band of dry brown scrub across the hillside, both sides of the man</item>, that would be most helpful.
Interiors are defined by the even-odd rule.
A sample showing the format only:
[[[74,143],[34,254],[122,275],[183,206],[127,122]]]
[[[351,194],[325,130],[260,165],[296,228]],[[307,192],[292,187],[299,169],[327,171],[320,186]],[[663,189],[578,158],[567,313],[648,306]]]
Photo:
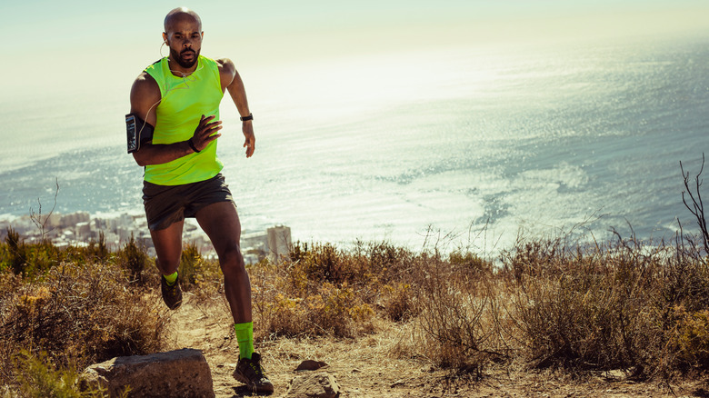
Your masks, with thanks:
[[[417,361],[468,381],[520,369],[704,377],[709,264],[699,247],[682,236],[653,245],[617,235],[590,245],[528,240],[493,265],[468,252],[386,243],[295,244],[289,261],[249,268],[256,338],[266,348],[299,341],[316,351],[356,340],[369,346],[352,347],[359,361]],[[110,254],[100,242],[59,250],[15,234],[0,254],[0,360],[15,363],[0,369],[1,383],[22,380],[23,351],[82,368],[165,346],[157,273],[134,241]],[[180,272],[205,319],[224,315],[218,264],[187,245]],[[365,358],[371,344],[380,358]]]

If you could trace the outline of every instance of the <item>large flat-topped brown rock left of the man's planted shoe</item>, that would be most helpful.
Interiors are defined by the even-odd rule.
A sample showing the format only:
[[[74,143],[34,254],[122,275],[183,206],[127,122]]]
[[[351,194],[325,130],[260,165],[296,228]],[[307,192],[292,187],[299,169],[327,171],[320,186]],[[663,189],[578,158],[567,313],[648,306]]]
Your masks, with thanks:
[[[120,356],[81,374],[84,388],[100,384],[111,397],[130,386],[131,397],[214,397],[212,373],[199,350]]]

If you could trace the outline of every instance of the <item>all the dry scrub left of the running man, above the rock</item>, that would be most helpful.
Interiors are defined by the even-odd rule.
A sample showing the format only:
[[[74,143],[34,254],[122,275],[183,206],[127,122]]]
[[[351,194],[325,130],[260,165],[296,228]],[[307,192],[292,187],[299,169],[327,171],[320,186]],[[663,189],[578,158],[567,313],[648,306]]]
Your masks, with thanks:
[[[33,357],[46,356],[43,363],[70,370],[161,350],[167,312],[152,290],[135,283],[133,270],[119,265],[125,251],[96,262],[92,247],[62,251],[47,244],[22,245],[23,255],[61,262],[44,270],[38,264],[45,262],[24,257],[20,267],[26,272],[15,274],[8,265],[16,264],[17,253],[5,251],[9,255],[0,262],[0,383],[15,383],[36,370]],[[20,353],[30,359],[18,361]]]

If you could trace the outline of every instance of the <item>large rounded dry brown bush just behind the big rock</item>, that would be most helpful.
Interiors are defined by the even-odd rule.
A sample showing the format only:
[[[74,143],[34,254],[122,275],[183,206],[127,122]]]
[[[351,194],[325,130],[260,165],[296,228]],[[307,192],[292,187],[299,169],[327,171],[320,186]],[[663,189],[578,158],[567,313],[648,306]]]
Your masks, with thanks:
[[[165,337],[166,312],[153,297],[127,283],[114,264],[61,264],[45,282],[0,286],[3,363],[25,349],[49,353],[53,362],[83,367],[115,356],[154,353]],[[16,288],[11,294],[9,286]],[[3,367],[0,382],[12,380]]]

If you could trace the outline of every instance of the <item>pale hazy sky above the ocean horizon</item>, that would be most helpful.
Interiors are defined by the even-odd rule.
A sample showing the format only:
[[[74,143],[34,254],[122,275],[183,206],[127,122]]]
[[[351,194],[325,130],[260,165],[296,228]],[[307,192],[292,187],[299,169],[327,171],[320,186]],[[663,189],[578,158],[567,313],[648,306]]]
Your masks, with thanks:
[[[155,61],[175,2],[3,2],[3,102],[125,87]],[[203,54],[237,66],[534,38],[704,29],[705,0],[200,1]],[[8,25],[9,26],[6,26]],[[166,49],[163,48],[163,55]],[[7,62],[7,60],[11,60]]]

